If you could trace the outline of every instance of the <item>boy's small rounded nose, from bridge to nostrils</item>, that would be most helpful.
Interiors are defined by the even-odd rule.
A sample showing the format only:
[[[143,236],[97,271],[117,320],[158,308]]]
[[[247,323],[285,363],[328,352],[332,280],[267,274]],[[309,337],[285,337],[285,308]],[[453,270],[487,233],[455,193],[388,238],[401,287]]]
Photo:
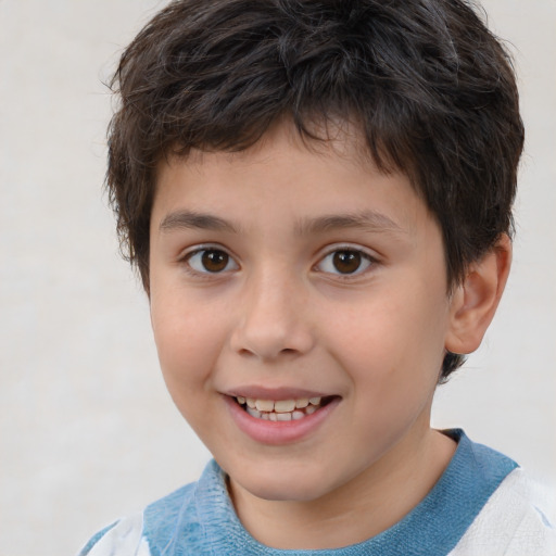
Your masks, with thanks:
[[[253,277],[245,282],[231,337],[237,353],[274,361],[312,350],[308,292],[300,282],[283,275]]]

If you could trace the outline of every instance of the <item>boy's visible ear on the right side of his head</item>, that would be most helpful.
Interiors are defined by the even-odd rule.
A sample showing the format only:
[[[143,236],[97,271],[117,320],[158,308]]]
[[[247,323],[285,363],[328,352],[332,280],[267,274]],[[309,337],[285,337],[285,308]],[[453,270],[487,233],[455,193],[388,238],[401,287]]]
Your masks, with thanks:
[[[469,265],[464,281],[451,296],[447,351],[466,354],[479,348],[504,292],[510,265],[511,240],[506,233],[481,260]]]

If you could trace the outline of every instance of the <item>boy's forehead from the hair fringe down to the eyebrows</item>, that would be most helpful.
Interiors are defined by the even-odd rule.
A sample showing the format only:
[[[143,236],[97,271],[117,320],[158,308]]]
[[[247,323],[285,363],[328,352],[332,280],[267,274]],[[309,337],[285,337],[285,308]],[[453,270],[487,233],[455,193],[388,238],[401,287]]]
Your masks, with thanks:
[[[265,215],[266,222],[281,217],[299,231],[306,219],[323,224],[334,215],[341,215],[338,222],[374,213],[375,222],[410,230],[425,206],[407,176],[380,172],[353,126],[329,125],[317,132],[327,139],[305,138],[281,124],[240,152],[194,149],[162,161],[152,224],[167,223],[168,214],[181,210],[236,215],[244,223],[257,215],[262,223]]]

